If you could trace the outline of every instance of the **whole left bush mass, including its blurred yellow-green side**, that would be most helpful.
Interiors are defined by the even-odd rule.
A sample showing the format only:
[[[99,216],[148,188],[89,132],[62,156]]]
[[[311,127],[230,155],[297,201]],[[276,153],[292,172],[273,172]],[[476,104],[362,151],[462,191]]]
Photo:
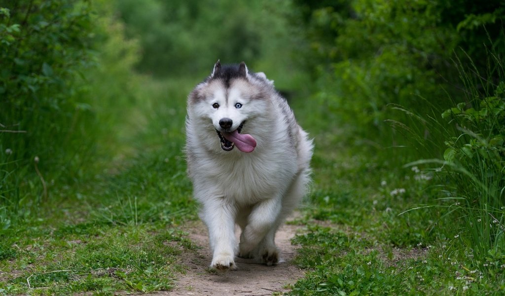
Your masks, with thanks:
[[[8,228],[9,213],[28,216],[30,205],[89,179],[134,133],[113,128],[127,124],[142,79],[132,70],[138,42],[125,37],[111,3],[0,7],[0,226]]]

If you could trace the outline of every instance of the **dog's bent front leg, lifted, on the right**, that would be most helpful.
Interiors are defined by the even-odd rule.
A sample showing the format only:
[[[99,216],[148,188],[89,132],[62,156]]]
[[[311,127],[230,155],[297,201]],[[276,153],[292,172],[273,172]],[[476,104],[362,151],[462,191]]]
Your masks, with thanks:
[[[279,251],[274,243],[275,230],[278,225],[278,217],[281,212],[281,199],[273,198],[258,203],[251,211],[247,225],[240,235],[239,256],[251,258],[260,256],[267,265],[276,264],[279,260]],[[262,243],[267,233],[268,243]],[[271,236],[271,238],[270,238]],[[259,248],[259,249],[257,249]],[[259,254],[251,252],[258,250]],[[256,253],[256,252],[255,252]]]

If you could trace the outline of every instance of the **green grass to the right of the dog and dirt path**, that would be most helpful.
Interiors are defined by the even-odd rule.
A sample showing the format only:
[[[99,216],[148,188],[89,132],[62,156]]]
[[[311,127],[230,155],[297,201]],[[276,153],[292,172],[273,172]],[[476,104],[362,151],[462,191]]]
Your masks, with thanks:
[[[474,258],[468,212],[457,201],[439,200],[447,192],[443,174],[424,162],[394,167],[398,160],[388,162],[387,156],[400,148],[356,145],[323,104],[302,104],[294,105],[301,125],[315,137],[314,184],[301,218],[293,222],[305,230],[292,242],[300,245],[294,263],[308,273],[289,294],[505,291],[502,251]]]

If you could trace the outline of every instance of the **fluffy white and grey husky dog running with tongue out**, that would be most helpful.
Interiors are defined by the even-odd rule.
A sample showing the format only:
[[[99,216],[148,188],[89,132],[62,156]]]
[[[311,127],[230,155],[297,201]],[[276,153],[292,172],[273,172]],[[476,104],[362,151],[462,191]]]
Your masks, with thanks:
[[[275,233],[306,192],[312,149],[264,73],[218,61],[196,85],[187,100],[185,152],[211,268],[234,270],[235,256],[279,262]]]

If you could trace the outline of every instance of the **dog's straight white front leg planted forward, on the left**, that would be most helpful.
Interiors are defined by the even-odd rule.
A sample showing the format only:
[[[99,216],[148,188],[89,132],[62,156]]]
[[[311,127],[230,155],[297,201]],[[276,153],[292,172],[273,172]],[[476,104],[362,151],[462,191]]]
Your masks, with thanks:
[[[209,228],[213,251],[211,268],[235,270],[235,208],[224,198],[215,198],[204,204],[202,219]]]

